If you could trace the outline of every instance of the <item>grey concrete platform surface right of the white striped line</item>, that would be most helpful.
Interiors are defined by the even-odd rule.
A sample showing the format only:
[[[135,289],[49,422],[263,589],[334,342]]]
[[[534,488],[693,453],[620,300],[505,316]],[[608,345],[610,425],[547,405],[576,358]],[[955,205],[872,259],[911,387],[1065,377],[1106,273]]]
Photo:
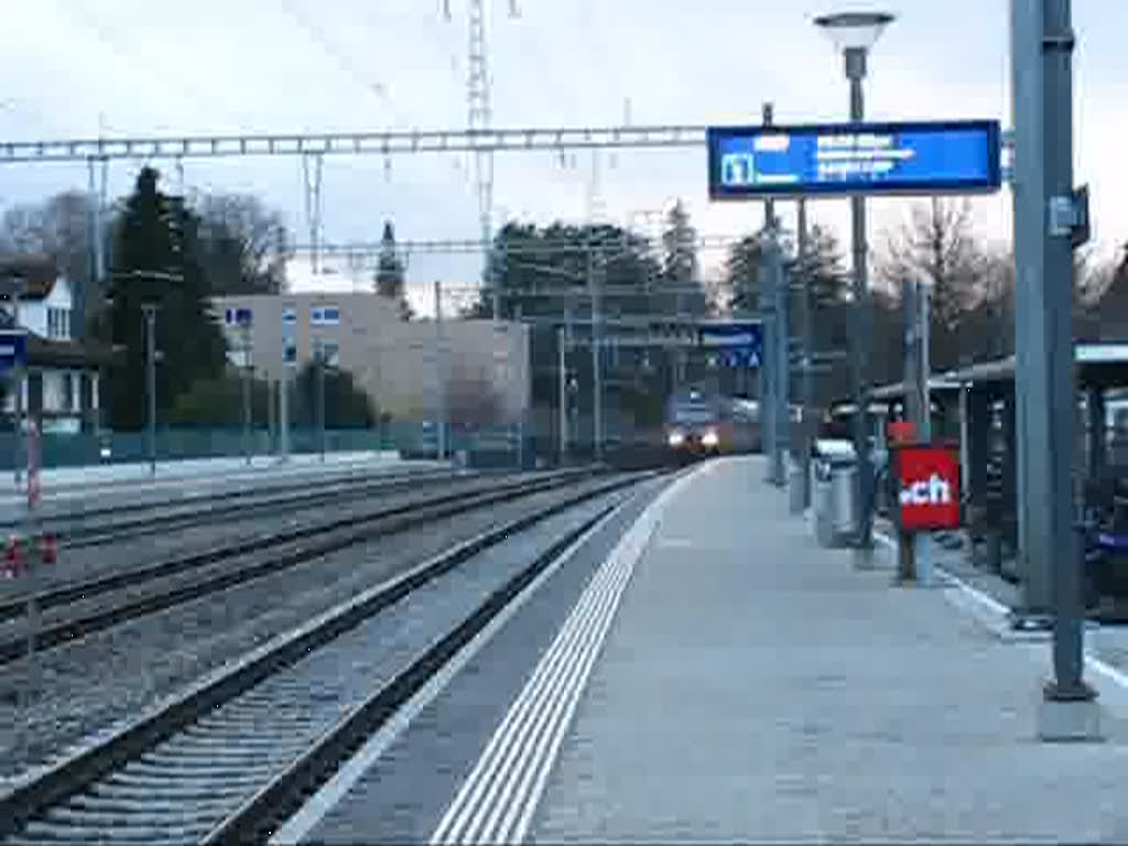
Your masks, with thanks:
[[[528,839],[1128,840],[1122,713],[1039,742],[1045,643],[852,570],[763,479],[714,462],[662,512]]]

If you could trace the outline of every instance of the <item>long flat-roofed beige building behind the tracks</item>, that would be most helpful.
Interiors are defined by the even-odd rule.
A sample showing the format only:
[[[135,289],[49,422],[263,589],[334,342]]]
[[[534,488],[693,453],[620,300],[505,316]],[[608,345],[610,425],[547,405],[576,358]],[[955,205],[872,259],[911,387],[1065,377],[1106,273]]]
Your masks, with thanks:
[[[367,292],[218,297],[212,312],[233,365],[249,355],[255,372],[275,381],[312,361],[320,344],[328,364],[350,371],[397,420],[435,418],[443,360],[453,425],[514,423],[528,408],[529,335],[520,324],[403,320],[397,302]],[[437,354],[440,338],[446,356]]]

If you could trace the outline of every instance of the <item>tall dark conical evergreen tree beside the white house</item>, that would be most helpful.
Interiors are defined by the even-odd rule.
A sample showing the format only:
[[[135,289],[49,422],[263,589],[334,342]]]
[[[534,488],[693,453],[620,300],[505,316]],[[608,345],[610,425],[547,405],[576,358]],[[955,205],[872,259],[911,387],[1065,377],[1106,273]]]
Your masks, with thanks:
[[[124,360],[111,381],[115,429],[146,425],[146,328],[142,306],[157,307],[158,420],[197,379],[218,377],[226,364],[223,335],[211,318],[199,261],[199,223],[178,197],[162,194],[157,170],[138,175],[117,221],[111,331]]]

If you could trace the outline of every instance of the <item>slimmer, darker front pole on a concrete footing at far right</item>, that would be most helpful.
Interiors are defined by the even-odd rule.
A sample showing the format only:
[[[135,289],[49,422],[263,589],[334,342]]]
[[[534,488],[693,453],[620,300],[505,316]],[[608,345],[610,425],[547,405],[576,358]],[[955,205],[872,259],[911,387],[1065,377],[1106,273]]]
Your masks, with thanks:
[[[1070,0],[1046,0],[1042,30],[1046,121],[1046,194],[1050,203],[1073,202],[1073,50]],[[1042,208],[1046,208],[1045,205]],[[1052,212],[1051,212],[1052,214]],[[1047,697],[1055,700],[1091,699],[1095,695],[1082,680],[1084,603],[1081,562],[1074,534],[1074,426],[1076,388],[1073,353],[1073,231],[1045,236],[1046,276],[1043,312],[1050,343],[1042,351],[1043,380],[1051,402],[1038,413],[1047,415],[1050,438],[1042,444],[1049,467],[1050,525],[1054,555],[1054,681]]]

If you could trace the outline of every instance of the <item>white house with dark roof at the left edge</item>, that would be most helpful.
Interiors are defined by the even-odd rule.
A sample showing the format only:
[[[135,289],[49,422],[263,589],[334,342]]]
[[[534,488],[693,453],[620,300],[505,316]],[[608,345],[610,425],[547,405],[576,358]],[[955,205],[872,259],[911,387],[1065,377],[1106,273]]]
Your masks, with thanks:
[[[27,367],[21,384],[25,413],[38,418],[44,432],[96,429],[102,370],[107,350],[74,340],[73,294],[65,277],[46,256],[0,255],[0,328],[19,326],[28,333]],[[15,411],[12,374],[6,373],[3,411]]]

